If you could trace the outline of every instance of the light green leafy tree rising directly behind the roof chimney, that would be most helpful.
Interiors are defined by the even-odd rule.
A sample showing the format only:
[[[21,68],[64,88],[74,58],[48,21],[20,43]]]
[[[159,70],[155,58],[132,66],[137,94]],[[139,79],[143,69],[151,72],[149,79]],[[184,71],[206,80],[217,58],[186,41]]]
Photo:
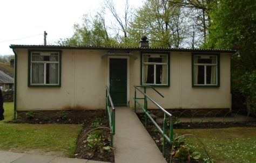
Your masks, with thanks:
[[[180,47],[187,31],[181,12],[180,7],[166,0],[145,1],[131,23],[131,39],[147,36],[152,47]]]

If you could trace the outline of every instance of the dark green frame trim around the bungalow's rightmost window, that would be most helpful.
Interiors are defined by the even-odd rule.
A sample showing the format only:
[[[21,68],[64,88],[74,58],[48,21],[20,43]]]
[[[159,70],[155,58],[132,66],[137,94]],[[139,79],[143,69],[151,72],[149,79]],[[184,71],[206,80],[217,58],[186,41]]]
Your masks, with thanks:
[[[217,62],[218,62],[218,64],[217,64],[217,72],[218,72],[218,74],[217,74],[217,77],[218,77],[218,79],[217,79],[217,84],[216,85],[210,85],[210,84],[208,84],[208,85],[195,85],[194,84],[194,55],[216,55],[217,56]],[[192,53],[191,54],[191,60],[192,60],[192,87],[212,87],[212,88],[218,88],[218,87],[220,87],[220,54],[218,53],[218,54],[216,54],[216,53]]]

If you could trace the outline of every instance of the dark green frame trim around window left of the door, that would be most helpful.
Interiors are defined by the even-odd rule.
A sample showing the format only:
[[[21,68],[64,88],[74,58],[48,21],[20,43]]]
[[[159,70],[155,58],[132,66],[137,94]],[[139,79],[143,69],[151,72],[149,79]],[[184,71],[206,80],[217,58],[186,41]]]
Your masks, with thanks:
[[[59,53],[59,83],[58,84],[31,84],[31,52],[58,52]],[[60,50],[45,50],[45,49],[29,49],[28,50],[28,87],[61,87],[62,77],[62,51]]]

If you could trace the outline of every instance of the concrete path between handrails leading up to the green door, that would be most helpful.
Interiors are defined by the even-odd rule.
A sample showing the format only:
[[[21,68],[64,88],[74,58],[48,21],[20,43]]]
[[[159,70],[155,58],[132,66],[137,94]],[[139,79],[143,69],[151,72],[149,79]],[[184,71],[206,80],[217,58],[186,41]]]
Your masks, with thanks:
[[[166,162],[157,145],[131,108],[116,108],[114,147],[116,147],[114,151],[116,163]]]

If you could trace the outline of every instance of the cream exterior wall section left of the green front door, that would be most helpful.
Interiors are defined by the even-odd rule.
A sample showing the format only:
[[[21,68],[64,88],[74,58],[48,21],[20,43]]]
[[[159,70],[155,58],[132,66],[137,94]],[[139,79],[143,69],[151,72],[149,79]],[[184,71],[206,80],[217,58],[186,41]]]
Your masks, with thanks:
[[[17,110],[103,109],[107,60],[102,51],[63,50],[61,87],[28,87],[28,50],[17,50]]]

